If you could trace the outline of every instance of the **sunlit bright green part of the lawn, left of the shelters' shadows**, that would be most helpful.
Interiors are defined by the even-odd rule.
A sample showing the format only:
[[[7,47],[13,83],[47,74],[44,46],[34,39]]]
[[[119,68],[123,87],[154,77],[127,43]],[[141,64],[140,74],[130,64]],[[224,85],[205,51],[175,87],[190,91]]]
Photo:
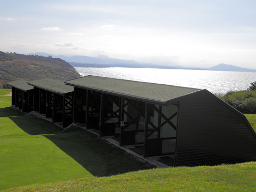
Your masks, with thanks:
[[[20,129],[12,120],[18,117],[4,117],[4,107],[10,106],[11,97],[3,95],[10,91],[0,90],[0,190],[33,183],[93,177],[43,135],[30,135]],[[37,126],[36,123],[34,126]]]

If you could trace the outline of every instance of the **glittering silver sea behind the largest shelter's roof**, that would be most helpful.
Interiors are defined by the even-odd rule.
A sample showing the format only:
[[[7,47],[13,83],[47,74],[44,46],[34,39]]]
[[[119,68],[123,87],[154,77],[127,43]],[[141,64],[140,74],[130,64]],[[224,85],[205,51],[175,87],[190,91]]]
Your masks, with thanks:
[[[92,68],[75,67],[83,76],[94,75],[133,81],[159,83],[206,89],[212,93],[246,90],[256,81],[256,73],[149,68]]]

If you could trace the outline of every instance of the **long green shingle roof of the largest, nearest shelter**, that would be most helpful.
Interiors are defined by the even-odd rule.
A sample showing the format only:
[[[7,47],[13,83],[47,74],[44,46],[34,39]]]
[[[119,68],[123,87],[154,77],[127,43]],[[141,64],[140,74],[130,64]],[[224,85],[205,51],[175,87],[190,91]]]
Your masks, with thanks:
[[[166,105],[168,101],[201,89],[163,85],[156,83],[137,82],[108,77],[86,76],[65,82],[68,85],[83,89],[119,95],[136,100],[142,100]]]

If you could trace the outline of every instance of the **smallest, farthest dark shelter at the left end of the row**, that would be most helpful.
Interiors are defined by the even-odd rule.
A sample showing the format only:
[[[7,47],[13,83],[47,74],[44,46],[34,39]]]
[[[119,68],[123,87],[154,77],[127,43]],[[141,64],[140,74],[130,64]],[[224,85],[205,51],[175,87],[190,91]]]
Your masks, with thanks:
[[[7,85],[12,86],[12,106],[19,108],[22,113],[32,111],[34,87],[25,80],[9,82]]]

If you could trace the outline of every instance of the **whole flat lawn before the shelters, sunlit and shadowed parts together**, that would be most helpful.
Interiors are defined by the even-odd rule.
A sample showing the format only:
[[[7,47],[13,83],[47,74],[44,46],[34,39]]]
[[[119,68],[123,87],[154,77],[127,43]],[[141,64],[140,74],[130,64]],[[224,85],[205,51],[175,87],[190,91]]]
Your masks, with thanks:
[[[3,94],[9,92],[0,90],[7,106],[11,97]],[[154,167],[79,127],[62,130],[6,105],[0,122],[0,190]]]

